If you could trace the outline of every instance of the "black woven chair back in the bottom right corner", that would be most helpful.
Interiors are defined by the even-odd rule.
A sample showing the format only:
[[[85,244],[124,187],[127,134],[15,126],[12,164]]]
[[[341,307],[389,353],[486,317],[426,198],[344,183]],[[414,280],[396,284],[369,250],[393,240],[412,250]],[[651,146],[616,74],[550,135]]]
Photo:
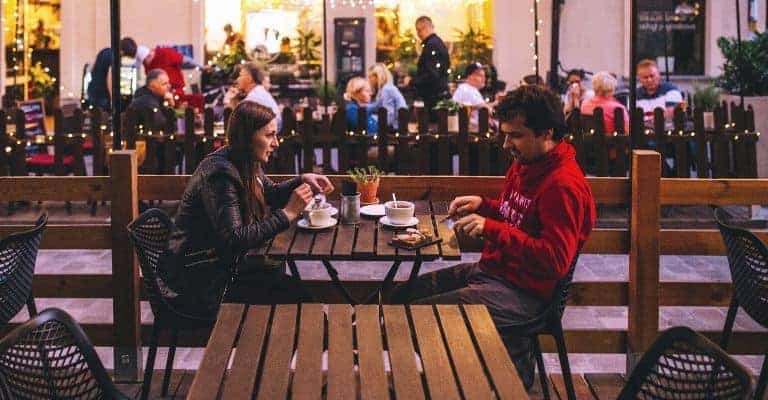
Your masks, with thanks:
[[[717,344],[688,327],[663,332],[640,359],[619,400],[742,400],[749,372]]]

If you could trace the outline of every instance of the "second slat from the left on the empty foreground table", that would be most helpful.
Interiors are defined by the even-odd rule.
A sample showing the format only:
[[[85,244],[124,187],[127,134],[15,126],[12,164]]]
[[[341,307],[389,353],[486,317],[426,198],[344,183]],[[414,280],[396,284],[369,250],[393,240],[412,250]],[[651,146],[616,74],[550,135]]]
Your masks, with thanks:
[[[223,307],[223,306],[222,306]],[[251,399],[256,387],[261,349],[267,335],[270,306],[250,306],[237,341],[232,370],[224,382],[222,399]]]

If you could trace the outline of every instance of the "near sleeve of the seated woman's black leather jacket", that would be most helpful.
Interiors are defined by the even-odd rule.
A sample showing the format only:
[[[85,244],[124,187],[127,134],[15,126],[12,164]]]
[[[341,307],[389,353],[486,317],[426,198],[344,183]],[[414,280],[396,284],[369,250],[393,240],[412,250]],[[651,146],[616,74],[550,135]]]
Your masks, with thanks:
[[[273,183],[273,186],[279,185]],[[201,193],[211,226],[220,243],[223,243],[232,254],[256,247],[289,226],[288,217],[280,209],[276,209],[252,224],[243,224],[237,191],[237,184],[232,176],[216,173],[203,182]]]

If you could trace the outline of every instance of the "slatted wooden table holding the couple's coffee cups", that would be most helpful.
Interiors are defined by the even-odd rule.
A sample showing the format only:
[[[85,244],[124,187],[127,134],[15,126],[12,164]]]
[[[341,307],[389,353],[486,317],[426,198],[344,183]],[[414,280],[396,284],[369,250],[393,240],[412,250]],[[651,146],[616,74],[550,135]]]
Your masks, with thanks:
[[[331,282],[349,304],[370,303],[379,294],[389,290],[395,279],[395,274],[403,261],[413,262],[409,281],[418,277],[421,263],[442,258],[443,260],[460,260],[456,235],[445,223],[439,223],[447,214],[446,207],[433,205],[428,201],[417,201],[416,216],[419,218],[419,229],[428,229],[441,238],[442,243],[424,247],[416,251],[396,249],[389,245],[396,231],[378,223],[378,219],[361,217],[356,225],[338,224],[324,230],[305,230],[298,228],[296,223],[277,235],[271,242],[253,253],[284,259],[294,277],[301,279],[297,260],[320,261],[328,271]],[[438,213],[435,213],[437,210]],[[439,214],[439,213],[443,214]],[[355,299],[339,279],[338,271],[332,261],[391,261],[392,266],[384,278],[379,290],[371,293],[363,300]]]

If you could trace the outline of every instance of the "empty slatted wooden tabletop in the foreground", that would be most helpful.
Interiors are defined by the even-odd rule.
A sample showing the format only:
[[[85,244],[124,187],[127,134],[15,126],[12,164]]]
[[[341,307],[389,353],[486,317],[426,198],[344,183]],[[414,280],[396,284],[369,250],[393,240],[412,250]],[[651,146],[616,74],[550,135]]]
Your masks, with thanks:
[[[482,305],[223,304],[187,399],[393,395],[528,398]]]

